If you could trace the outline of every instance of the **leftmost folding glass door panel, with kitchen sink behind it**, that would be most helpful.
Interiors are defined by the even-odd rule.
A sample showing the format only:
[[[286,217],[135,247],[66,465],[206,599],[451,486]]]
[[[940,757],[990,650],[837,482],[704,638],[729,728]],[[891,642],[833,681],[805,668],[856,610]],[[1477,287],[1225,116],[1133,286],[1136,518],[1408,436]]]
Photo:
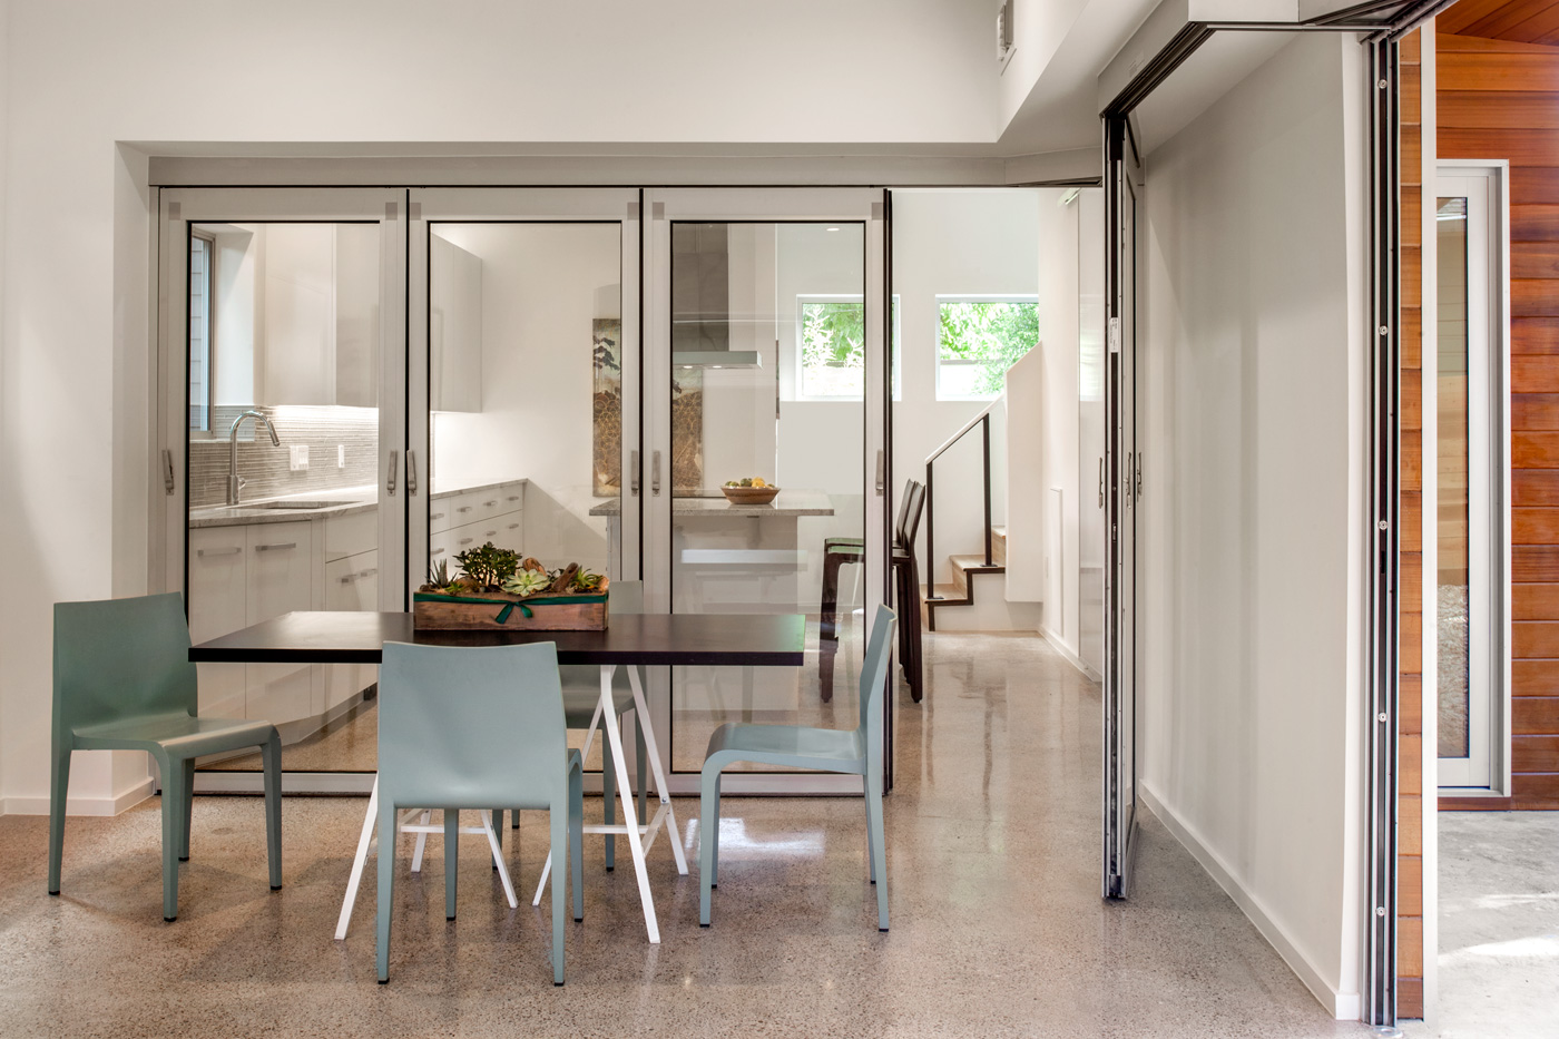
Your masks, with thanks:
[[[402,608],[404,201],[162,193],[165,574],[195,641],[290,610]],[[354,789],[376,768],[376,682],[366,665],[201,665],[200,710],[274,722],[304,786]],[[198,788],[248,789],[259,768],[207,760]]]

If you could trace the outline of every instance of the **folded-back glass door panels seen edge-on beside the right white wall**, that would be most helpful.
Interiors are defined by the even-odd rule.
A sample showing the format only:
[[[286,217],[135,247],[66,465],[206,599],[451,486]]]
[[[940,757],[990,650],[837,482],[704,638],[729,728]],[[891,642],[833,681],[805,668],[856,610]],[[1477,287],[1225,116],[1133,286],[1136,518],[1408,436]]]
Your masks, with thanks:
[[[1141,161],[1130,125],[1105,123],[1105,671],[1104,671],[1104,894],[1130,892],[1137,830],[1137,190]]]

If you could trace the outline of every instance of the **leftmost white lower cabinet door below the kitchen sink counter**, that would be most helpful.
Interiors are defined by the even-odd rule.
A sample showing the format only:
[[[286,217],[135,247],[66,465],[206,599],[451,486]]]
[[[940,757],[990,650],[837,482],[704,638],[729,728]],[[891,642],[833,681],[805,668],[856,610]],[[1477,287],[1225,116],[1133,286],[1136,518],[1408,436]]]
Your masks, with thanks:
[[[190,640],[203,643],[235,632],[248,621],[245,527],[195,527],[190,530],[189,615]],[[198,665],[200,713],[209,718],[243,718],[243,665]]]

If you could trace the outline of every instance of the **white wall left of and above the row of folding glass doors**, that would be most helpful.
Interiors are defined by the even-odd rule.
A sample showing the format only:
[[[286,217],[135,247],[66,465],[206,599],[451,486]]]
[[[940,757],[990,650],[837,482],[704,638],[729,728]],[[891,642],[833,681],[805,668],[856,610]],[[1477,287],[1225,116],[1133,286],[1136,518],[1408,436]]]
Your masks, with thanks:
[[[988,19],[943,0],[6,6],[0,537],[33,573],[0,605],[6,797],[48,793],[48,604],[147,587],[150,198],[115,142],[995,139]],[[203,55],[242,75],[192,89]]]

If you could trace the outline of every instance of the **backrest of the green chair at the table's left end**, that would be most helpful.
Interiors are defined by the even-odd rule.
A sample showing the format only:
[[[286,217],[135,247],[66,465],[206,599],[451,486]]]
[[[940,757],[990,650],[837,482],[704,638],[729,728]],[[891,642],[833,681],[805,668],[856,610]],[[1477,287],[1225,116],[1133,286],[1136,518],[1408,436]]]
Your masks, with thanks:
[[[184,598],[55,604],[55,738],[80,725],[200,708]]]

